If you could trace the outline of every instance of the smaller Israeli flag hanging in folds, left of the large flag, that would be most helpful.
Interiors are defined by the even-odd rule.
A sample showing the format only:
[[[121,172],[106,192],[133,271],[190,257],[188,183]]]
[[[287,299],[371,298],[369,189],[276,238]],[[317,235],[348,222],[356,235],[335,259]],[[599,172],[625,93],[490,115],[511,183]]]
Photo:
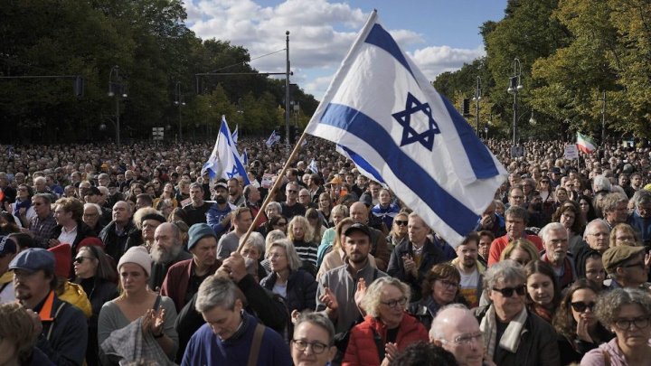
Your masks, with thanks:
[[[241,162],[241,155],[237,152],[235,143],[232,141],[231,130],[226,123],[226,117],[222,116],[217,141],[212,148],[212,154],[206,164],[203,164],[203,173],[208,172],[211,179],[231,179],[241,176],[245,184],[249,184],[249,177],[246,168]]]

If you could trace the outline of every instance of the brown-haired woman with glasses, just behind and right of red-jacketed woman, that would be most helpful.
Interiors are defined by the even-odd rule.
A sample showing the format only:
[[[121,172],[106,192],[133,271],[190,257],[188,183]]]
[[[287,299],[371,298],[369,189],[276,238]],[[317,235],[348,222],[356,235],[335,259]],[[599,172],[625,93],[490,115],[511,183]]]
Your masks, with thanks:
[[[448,263],[431,267],[422,281],[422,298],[411,303],[407,311],[429,329],[441,307],[450,304],[467,305],[459,292],[460,282],[461,275],[457,267]]]

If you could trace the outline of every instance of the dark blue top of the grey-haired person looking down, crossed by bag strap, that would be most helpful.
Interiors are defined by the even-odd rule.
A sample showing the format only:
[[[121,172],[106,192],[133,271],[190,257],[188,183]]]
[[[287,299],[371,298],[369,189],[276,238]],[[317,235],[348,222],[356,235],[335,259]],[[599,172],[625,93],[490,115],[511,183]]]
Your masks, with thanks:
[[[181,365],[246,365],[258,320],[246,312],[242,316],[247,318],[246,329],[241,336],[234,336],[235,339],[222,341],[208,324],[203,324],[190,339]],[[280,334],[269,328],[262,334],[258,365],[292,365],[287,343]]]

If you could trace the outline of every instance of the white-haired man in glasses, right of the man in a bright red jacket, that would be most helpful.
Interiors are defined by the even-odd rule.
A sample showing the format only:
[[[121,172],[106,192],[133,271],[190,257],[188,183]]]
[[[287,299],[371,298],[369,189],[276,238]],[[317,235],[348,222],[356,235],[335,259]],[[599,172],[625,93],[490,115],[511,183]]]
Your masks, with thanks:
[[[576,269],[574,261],[568,258],[567,254],[570,247],[567,230],[560,222],[551,222],[545,225],[538,235],[545,247],[542,261],[552,265],[561,289],[570,286],[576,280]]]

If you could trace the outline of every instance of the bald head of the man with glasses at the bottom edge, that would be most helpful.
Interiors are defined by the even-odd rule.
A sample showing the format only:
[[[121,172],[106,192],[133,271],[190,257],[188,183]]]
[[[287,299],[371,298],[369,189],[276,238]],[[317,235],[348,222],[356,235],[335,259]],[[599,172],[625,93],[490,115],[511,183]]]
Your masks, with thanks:
[[[484,337],[475,315],[463,305],[443,307],[429,330],[429,341],[454,354],[459,365],[481,366]]]

